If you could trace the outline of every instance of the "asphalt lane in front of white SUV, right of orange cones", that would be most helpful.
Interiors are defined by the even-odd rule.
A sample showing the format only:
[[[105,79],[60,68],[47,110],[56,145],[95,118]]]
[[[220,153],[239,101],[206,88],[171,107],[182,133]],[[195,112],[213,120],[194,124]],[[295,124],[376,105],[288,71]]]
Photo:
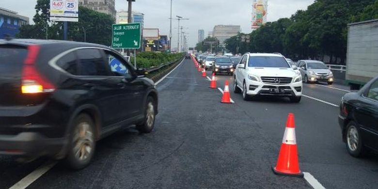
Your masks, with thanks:
[[[378,184],[377,173],[373,172],[378,166],[374,154],[365,159],[347,154],[337,122],[338,108],[309,98],[302,98],[297,104],[288,98],[261,97],[247,102],[241,94],[232,93],[231,97],[247,116],[263,127],[264,135],[276,145],[282,141],[288,113],[293,112],[301,170],[313,174],[326,188],[361,188]],[[268,158],[273,161],[277,155]]]

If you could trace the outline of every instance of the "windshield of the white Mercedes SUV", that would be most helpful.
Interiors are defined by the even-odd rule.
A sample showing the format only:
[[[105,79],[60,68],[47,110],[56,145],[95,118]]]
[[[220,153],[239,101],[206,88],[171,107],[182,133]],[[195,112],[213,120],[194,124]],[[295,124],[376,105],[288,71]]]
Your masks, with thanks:
[[[274,56],[251,56],[248,61],[248,67],[290,68],[289,64],[283,57]]]

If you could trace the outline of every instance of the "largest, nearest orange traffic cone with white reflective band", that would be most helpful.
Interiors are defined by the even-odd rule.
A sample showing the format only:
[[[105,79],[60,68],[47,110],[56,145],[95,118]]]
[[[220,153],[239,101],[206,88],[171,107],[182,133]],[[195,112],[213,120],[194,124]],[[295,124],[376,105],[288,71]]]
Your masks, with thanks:
[[[299,170],[293,113],[289,113],[287,117],[284,139],[282,140],[277,165],[274,168],[272,167],[272,170],[277,175],[303,177],[303,173]]]

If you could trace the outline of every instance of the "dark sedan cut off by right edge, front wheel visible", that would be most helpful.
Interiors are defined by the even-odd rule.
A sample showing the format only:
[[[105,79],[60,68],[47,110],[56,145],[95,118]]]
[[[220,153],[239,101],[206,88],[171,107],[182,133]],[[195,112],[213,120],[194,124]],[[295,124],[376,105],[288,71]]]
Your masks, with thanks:
[[[378,77],[343,96],[339,125],[351,156],[360,157],[366,148],[378,151]]]

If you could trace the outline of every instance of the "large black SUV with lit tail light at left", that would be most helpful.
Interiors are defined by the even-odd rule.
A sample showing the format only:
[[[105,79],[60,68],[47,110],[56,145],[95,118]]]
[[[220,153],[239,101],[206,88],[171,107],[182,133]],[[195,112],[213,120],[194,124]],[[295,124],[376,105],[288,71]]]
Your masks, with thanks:
[[[81,169],[114,131],[135,124],[151,132],[157,90],[142,73],[101,45],[0,40],[0,155]]]

